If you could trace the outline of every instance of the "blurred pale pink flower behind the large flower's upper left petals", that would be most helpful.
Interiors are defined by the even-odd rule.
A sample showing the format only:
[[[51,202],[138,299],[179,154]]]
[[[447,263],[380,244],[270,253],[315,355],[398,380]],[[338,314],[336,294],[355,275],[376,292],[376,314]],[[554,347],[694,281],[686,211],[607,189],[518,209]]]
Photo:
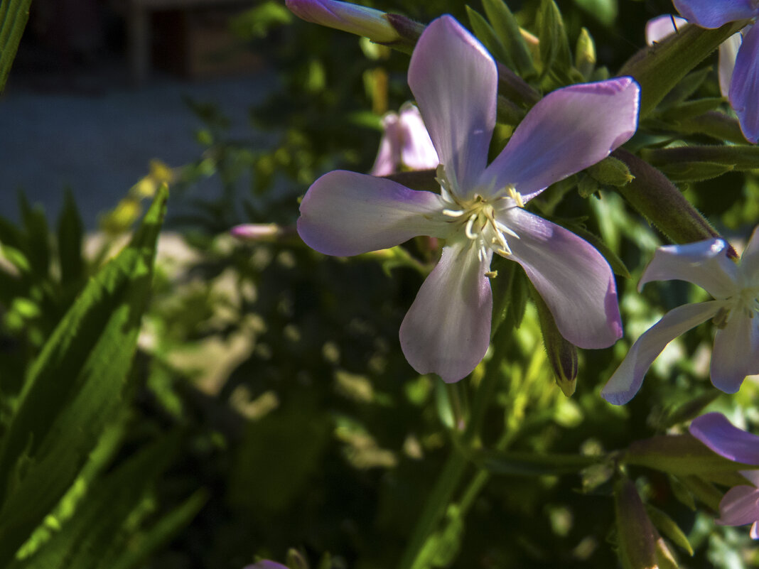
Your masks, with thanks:
[[[416,105],[407,102],[401,112],[386,113],[382,124],[383,137],[370,174],[386,176],[405,168],[427,170],[440,163]]]

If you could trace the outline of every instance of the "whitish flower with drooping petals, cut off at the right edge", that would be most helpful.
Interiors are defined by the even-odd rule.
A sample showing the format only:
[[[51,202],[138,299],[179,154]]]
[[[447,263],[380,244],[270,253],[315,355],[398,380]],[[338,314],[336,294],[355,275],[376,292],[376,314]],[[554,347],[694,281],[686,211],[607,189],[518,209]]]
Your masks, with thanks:
[[[694,326],[716,325],[710,375],[716,388],[735,393],[745,376],[759,373],[759,231],[754,230],[739,263],[728,256],[722,239],[660,247],[638,288],[649,281],[678,279],[698,285],[714,300],[685,304],[666,313],[632,345],[601,395],[625,404],[641,388],[643,377],[666,344]]]

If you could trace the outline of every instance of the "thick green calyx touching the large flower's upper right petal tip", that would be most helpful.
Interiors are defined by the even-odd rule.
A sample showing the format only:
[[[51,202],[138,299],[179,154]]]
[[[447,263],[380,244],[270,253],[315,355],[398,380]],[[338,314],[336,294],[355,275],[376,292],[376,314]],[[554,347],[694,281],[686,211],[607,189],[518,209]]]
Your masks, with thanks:
[[[619,70],[619,75],[631,75],[641,86],[640,117],[645,118],[664,99],[667,93],[713,52],[720,43],[738,32],[749,20],[725,24],[716,30],[689,24],[656,45],[633,55]]]

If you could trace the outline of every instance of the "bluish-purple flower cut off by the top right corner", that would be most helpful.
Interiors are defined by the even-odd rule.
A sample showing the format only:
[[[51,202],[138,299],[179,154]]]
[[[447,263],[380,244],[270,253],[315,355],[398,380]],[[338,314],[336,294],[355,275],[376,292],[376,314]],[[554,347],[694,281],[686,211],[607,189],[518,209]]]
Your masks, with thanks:
[[[673,0],[686,20],[717,28],[759,17],[757,0]],[[742,38],[741,38],[742,36]],[[728,87],[729,86],[729,87]],[[750,25],[720,49],[720,87],[738,115],[746,140],[759,140],[759,27]]]

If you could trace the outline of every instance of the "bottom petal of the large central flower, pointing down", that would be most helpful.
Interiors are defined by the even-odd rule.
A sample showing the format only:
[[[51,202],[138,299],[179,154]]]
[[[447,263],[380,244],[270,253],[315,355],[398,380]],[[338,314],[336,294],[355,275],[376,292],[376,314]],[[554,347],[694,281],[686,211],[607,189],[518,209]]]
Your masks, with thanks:
[[[473,244],[463,239],[443,247],[401,324],[401,347],[411,367],[445,382],[471,373],[490,344],[493,295],[485,272],[492,253],[480,261]]]

